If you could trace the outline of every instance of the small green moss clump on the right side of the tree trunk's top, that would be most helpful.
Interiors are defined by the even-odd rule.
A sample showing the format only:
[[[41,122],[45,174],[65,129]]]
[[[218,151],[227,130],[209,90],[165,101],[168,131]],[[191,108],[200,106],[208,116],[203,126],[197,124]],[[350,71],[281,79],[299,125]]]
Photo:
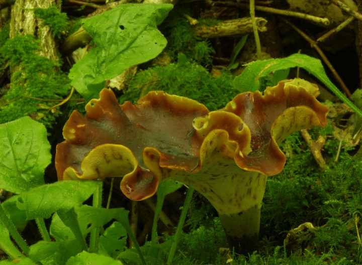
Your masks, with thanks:
[[[36,8],[33,11],[35,17],[42,19],[44,24],[50,27],[53,37],[60,38],[61,33],[68,27],[67,15],[61,13],[56,6],[47,9]]]

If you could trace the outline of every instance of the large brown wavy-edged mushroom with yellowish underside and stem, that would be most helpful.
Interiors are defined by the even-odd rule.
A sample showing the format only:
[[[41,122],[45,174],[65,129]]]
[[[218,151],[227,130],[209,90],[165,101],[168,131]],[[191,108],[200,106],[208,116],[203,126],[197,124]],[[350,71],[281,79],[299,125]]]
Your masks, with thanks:
[[[230,246],[257,248],[266,178],[286,162],[279,144],[292,132],[325,126],[328,109],[318,87],[284,80],[262,94],[245,92],[209,112],[195,100],[151,91],[119,105],[103,89],[83,117],[74,111],[57,146],[59,180],[123,177],[132,200],[152,196],[166,179],[203,194],[219,213]]]

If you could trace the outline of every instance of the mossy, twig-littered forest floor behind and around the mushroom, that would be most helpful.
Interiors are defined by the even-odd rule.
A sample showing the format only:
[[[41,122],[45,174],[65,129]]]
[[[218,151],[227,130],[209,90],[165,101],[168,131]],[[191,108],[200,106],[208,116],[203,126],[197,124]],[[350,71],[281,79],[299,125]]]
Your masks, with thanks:
[[[231,89],[233,79],[242,73],[246,64],[301,53],[321,60],[332,83],[362,108],[362,3],[360,0],[343,3],[344,6],[334,0],[255,1],[260,39],[255,41],[249,20],[249,1],[179,0],[172,3],[173,9],[158,25],[167,40],[164,50],[156,58],[129,67],[117,78],[107,80],[106,86],[115,91],[120,103],[136,102],[150,90],[164,90],[197,99],[214,110],[236,95]],[[86,35],[76,36],[81,19],[118,4],[106,4],[102,0],[63,1],[61,12],[66,14],[68,22],[55,36],[52,47],[59,56],[56,67],[60,72],[67,75],[71,66],[96,46]],[[2,9],[2,14],[0,44],[4,45],[5,35],[9,36],[12,31],[11,27],[7,29],[13,23],[10,7]],[[54,157],[56,145],[63,141],[61,128],[73,109],[84,113],[85,100],[75,91],[69,101],[59,105],[48,101],[40,103],[39,98],[66,98],[70,93],[69,80],[56,77],[58,79],[51,84],[55,92],[30,93],[27,100],[34,101],[21,103],[22,106],[16,108],[17,113],[7,109],[19,96],[11,95],[15,93],[11,92],[11,83],[15,82],[17,62],[7,59],[5,50],[1,52],[0,122],[24,115],[42,122],[47,127]],[[13,51],[8,49],[7,52]],[[288,79],[300,77],[318,85],[321,90],[318,99],[329,108],[328,124],[302,134],[295,132],[281,145],[287,163],[282,173],[267,180],[258,250],[248,256],[228,250],[217,212],[196,192],[173,264],[362,264],[362,122],[307,71],[292,68],[284,74],[288,74]],[[34,80],[32,82],[38,82]],[[275,81],[272,74],[264,80],[264,85],[276,85]],[[40,81],[38,84],[43,85]],[[214,92],[208,92],[214,87]],[[310,141],[317,147],[311,147]],[[319,152],[324,164],[313,157],[312,152]],[[46,170],[45,182],[55,181],[53,159]],[[156,199],[130,201],[118,188],[120,181],[114,178],[104,182],[103,206],[107,206],[108,200],[110,208],[124,207],[131,211],[133,221],[137,219],[133,231],[146,255],[151,248],[149,239]],[[181,187],[165,198],[157,225],[160,253],[152,264],[166,262],[186,191],[186,187]],[[10,196],[11,193],[5,195],[4,192],[0,198],[4,201]],[[49,223],[50,220],[47,225]],[[41,234],[34,231],[35,221],[28,222],[23,236],[29,244],[41,240]],[[120,259],[125,264],[137,263]],[[150,260],[147,262],[151,264]]]

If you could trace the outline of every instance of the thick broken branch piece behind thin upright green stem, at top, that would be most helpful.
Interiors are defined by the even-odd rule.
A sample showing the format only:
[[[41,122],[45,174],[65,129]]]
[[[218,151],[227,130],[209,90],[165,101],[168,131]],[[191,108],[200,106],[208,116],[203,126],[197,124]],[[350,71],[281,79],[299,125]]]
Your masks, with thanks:
[[[255,20],[258,31],[264,32],[267,30],[265,27],[267,21],[265,19],[255,18]],[[251,18],[225,20],[210,27],[196,26],[195,30],[196,34],[203,39],[238,36],[253,32]]]

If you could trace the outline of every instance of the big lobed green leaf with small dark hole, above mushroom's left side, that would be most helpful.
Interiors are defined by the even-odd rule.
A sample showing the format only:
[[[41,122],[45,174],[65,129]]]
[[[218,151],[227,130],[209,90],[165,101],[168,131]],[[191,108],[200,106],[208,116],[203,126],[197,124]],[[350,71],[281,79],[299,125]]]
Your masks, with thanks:
[[[172,9],[168,4],[125,4],[86,19],[83,28],[97,47],[70,70],[71,85],[86,99],[98,97],[105,80],[155,58],[167,41],[157,30]]]

